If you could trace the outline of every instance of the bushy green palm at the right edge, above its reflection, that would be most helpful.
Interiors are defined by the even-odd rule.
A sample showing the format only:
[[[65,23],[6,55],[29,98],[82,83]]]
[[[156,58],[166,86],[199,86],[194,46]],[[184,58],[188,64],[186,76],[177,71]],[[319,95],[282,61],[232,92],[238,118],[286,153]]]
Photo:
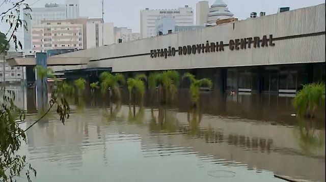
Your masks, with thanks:
[[[325,84],[311,83],[304,85],[294,99],[293,105],[297,114],[302,117],[314,117],[318,107],[325,103]]]

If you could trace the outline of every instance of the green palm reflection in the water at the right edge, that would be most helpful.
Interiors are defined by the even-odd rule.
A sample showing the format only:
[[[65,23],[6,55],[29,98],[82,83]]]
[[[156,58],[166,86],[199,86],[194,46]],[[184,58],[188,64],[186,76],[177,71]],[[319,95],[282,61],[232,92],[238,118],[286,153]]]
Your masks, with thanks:
[[[324,146],[324,132],[316,131],[312,126],[313,120],[305,120],[298,117],[298,128],[295,130],[295,136],[299,140],[298,144],[306,152],[311,153],[312,150]]]

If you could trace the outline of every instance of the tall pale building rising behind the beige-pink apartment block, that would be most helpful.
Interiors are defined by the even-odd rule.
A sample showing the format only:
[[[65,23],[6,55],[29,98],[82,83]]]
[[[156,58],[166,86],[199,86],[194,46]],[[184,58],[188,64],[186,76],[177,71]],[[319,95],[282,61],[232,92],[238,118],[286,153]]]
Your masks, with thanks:
[[[78,18],[79,4],[77,0],[67,1],[66,5],[51,3],[45,4],[44,8],[32,8],[32,11],[23,10],[23,13],[23,19],[27,23],[27,30],[24,29],[23,50],[25,54],[32,54],[34,53],[32,50],[32,28],[41,26],[41,21],[44,20],[65,20],[69,18]]]

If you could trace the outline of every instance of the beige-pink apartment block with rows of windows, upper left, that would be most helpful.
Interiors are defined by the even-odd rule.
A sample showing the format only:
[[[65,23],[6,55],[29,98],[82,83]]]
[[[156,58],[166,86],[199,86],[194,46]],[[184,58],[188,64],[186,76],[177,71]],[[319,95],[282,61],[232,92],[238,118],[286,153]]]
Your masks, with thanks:
[[[83,24],[69,20],[42,21],[32,28],[32,51],[46,52],[50,49],[83,49]]]

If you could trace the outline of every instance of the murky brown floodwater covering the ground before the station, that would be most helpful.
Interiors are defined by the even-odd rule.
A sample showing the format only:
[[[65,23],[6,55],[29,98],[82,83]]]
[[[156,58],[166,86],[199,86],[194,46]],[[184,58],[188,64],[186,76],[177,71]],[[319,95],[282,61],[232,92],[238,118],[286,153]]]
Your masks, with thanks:
[[[65,125],[51,114],[27,132],[34,181],[325,181],[324,111],[298,120],[290,97],[204,93],[196,109],[186,91],[168,106],[90,98]]]

